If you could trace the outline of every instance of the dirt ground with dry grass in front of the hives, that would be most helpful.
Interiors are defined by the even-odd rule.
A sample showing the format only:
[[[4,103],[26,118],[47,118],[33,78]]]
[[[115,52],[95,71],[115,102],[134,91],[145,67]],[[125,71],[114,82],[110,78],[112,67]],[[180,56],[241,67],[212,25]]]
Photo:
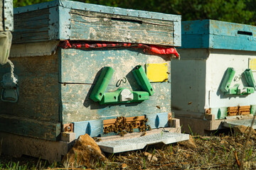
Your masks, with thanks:
[[[1,155],[0,169],[239,169],[245,140],[245,134],[233,132],[206,137],[193,136],[195,145],[181,142],[152,145],[121,154],[107,154],[108,162],[92,162],[91,167],[72,168],[57,162],[48,164],[31,157],[15,159]],[[146,156],[146,152],[149,156]],[[256,169],[256,135],[249,138],[244,160],[244,169]],[[17,162],[18,166],[15,166]]]

